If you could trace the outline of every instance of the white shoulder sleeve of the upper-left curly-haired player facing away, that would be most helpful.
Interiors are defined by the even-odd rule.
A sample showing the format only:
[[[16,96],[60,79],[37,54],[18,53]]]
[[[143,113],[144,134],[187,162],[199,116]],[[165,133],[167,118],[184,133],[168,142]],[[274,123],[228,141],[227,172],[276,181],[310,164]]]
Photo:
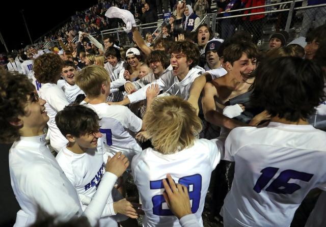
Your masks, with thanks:
[[[66,105],[69,105],[65,93],[59,86],[47,90],[44,99],[58,112],[63,110]]]

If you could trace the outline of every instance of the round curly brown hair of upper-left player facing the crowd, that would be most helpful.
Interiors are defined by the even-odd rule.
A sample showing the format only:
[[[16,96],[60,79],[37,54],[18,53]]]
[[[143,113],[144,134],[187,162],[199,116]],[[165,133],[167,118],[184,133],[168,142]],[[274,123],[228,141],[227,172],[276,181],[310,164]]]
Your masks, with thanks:
[[[45,53],[35,59],[34,76],[41,83],[57,83],[63,66],[63,60],[58,54]]]

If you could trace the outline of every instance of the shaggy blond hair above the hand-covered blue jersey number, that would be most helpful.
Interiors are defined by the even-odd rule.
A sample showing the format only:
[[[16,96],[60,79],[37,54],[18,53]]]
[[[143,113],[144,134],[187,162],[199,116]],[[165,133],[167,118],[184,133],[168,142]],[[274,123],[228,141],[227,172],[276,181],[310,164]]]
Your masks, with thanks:
[[[194,145],[202,124],[195,109],[177,96],[156,98],[144,117],[154,148],[173,154]]]

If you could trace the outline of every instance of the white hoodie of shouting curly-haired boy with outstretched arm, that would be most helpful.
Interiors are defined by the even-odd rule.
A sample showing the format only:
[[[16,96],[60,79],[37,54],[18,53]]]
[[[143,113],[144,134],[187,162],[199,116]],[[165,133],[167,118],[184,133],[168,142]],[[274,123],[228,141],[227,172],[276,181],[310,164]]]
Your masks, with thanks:
[[[205,70],[199,66],[193,67],[183,80],[179,81],[177,76],[173,75],[172,69],[166,70],[156,81],[147,84],[137,92],[128,95],[130,103],[146,99],[146,90],[151,84],[158,84],[159,90],[165,94],[177,95],[187,100],[190,88],[194,80],[203,74]]]

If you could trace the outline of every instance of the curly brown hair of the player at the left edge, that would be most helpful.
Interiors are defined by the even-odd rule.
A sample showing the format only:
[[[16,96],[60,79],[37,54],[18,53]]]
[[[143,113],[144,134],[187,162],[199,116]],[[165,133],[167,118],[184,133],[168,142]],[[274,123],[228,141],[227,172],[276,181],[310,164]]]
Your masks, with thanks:
[[[9,122],[25,115],[27,96],[35,90],[23,74],[0,70],[0,143],[11,144],[19,140],[19,127]]]

